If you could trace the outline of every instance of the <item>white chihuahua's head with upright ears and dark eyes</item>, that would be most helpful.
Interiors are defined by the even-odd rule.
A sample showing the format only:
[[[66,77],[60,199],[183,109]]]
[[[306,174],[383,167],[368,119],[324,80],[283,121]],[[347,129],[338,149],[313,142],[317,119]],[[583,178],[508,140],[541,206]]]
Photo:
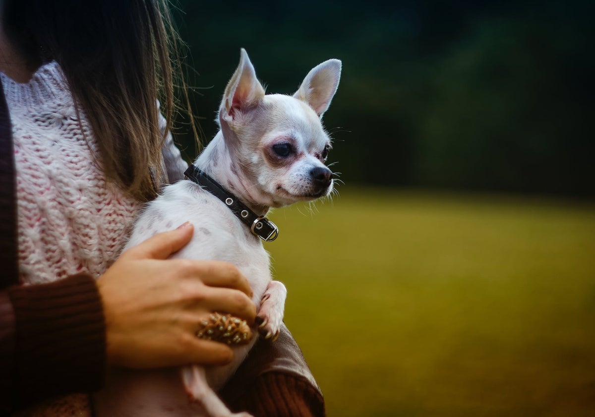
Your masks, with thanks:
[[[331,142],[321,117],[340,74],[341,61],[328,60],[306,75],[293,96],[265,95],[242,49],[221,101],[219,123],[236,169],[248,178],[250,194],[262,200],[255,203],[280,207],[332,191],[333,174],[325,166]]]

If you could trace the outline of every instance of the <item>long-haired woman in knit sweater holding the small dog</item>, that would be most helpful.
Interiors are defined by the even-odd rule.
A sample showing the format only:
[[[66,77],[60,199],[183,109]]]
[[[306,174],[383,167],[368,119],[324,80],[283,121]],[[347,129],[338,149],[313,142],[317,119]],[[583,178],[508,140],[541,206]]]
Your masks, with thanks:
[[[233,265],[167,259],[192,225],[115,259],[137,210],[183,177],[167,1],[0,4],[0,414],[90,415],[108,366],[229,362],[196,325],[213,311],[253,322],[256,306]],[[324,414],[287,332],[222,396],[255,415]]]

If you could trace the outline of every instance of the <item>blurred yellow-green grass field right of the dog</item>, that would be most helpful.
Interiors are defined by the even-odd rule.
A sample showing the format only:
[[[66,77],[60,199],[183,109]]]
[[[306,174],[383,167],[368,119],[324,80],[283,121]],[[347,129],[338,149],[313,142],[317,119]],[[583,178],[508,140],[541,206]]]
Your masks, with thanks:
[[[330,417],[595,415],[595,206],[343,189],[271,215]]]

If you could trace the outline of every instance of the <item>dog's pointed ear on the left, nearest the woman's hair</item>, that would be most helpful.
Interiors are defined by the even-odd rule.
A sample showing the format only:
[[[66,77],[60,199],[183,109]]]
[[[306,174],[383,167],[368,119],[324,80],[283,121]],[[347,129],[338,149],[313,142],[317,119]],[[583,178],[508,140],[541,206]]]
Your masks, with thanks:
[[[256,72],[246,50],[240,52],[240,64],[227,83],[219,109],[221,122],[231,122],[238,111],[258,103],[264,97],[264,88],[256,79]]]

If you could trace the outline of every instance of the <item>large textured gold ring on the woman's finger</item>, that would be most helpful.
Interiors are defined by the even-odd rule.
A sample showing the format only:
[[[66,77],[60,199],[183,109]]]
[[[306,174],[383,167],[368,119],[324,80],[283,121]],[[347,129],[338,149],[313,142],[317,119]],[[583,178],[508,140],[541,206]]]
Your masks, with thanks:
[[[250,341],[252,332],[246,320],[228,314],[212,313],[208,319],[201,321],[201,328],[196,332],[196,337],[229,345],[241,345]]]

